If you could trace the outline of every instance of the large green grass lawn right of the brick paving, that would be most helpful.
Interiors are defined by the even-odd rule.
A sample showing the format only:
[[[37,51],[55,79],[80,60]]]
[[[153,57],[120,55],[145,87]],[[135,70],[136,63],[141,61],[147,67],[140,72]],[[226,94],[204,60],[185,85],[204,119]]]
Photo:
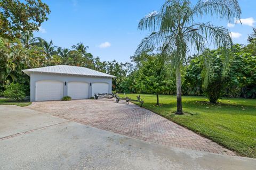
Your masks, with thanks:
[[[126,96],[136,99],[137,94]],[[145,100],[143,107],[150,111],[234,150],[241,156],[256,158],[256,99],[222,98],[219,104],[214,105],[205,97],[183,96],[185,115],[175,115],[175,96],[160,95],[161,106],[155,105],[156,95],[141,95],[141,98]]]

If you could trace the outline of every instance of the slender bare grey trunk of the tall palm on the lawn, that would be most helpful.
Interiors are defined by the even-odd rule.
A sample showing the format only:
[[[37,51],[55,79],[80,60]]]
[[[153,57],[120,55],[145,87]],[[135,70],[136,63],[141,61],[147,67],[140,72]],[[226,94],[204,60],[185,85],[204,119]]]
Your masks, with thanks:
[[[181,115],[182,102],[181,102],[181,73],[180,70],[176,72],[176,88],[177,88],[177,112],[175,114]]]

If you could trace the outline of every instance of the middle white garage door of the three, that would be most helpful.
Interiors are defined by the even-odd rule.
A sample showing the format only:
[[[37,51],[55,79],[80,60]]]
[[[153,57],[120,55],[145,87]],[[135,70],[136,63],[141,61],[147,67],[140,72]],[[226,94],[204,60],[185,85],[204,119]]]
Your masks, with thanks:
[[[69,82],[68,96],[72,99],[89,98],[89,84],[86,82]]]

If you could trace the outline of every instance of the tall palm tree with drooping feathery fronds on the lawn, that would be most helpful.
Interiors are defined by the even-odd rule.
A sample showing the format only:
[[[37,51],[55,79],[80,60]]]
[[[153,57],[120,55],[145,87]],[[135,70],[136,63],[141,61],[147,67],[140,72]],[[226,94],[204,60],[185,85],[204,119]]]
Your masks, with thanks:
[[[169,61],[176,74],[177,112],[183,114],[181,102],[181,71],[183,62],[189,55],[189,49],[202,53],[207,45],[221,47],[226,63],[231,58],[230,49],[233,46],[230,31],[223,27],[214,26],[211,22],[196,22],[205,16],[225,19],[234,22],[240,19],[241,9],[237,0],[199,0],[192,5],[189,0],[168,0],[161,10],[152,12],[139,22],[139,30],[150,30],[151,34],[144,38],[138,46],[135,55],[147,50],[160,50],[169,56]],[[205,64],[207,57],[204,57]],[[226,64],[223,75],[228,70]],[[204,85],[211,79],[210,67],[204,69]]]

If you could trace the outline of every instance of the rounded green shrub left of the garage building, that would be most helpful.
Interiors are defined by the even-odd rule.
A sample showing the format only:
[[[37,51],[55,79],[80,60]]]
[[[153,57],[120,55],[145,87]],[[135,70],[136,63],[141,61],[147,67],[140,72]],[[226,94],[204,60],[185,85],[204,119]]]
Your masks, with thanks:
[[[2,95],[14,101],[21,101],[25,99],[25,87],[19,83],[11,83],[5,85],[5,90]]]

